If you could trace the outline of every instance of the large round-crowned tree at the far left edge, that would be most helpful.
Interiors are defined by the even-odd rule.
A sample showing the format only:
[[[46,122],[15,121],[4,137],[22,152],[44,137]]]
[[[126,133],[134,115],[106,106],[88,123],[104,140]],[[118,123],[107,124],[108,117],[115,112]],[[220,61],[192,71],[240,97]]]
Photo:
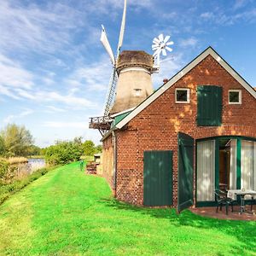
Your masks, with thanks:
[[[1,131],[1,137],[3,137],[6,154],[9,156],[26,156],[33,143],[30,131],[26,130],[25,126],[15,124],[7,125]]]

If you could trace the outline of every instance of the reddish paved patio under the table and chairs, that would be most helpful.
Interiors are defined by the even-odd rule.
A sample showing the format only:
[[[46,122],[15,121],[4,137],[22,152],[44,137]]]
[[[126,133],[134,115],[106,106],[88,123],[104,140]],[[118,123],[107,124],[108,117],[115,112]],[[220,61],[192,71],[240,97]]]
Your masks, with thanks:
[[[229,214],[226,215],[225,207],[222,208],[222,211],[218,210],[218,212],[216,212],[216,207],[189,208],[190,212],[210,218],[256,221],[256,206],[253,206],[253,212],[250,211],[250,206],[246,206],[246,210],[247,212],[242,212],[242,214],[239,214],[240,206],[234,206],[234,212],[231,212],[230,207]]]

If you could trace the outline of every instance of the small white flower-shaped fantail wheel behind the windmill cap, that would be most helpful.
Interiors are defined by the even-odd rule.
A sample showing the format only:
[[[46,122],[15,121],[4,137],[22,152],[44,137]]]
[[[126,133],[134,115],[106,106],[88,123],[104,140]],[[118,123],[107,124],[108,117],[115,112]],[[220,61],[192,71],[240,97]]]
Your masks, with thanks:
[[[152,49],[154,50],[154,73],[159,73],[160,70],[160,55],[167,55],[167,51],[172,52],[170,45],[174,44],[172,41],[169,41],[171,37],[164,37],[163,34],[160,34],[158,38],[153,39]]]

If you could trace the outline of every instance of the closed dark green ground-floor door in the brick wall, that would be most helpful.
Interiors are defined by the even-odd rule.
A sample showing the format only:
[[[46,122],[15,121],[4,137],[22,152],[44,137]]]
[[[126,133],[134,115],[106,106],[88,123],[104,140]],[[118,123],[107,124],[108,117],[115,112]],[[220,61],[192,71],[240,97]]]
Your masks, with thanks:
[[[172,206],[172,151],[144,151],[145,206]]]

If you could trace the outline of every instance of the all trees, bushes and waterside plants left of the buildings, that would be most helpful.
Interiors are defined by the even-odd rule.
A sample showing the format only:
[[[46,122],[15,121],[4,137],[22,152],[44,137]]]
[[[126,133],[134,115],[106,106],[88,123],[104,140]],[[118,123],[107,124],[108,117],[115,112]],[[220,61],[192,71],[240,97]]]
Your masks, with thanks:
[[[101,145],[82,139],[75,137],[73,141],[57,141],[39,148],[24,125],[6,125],[0,130],[0,204],[55,167],[79,160],[86,163],[102,151]],[[45,160],[46,166],[30,170],[29,161],[33,159]]]

